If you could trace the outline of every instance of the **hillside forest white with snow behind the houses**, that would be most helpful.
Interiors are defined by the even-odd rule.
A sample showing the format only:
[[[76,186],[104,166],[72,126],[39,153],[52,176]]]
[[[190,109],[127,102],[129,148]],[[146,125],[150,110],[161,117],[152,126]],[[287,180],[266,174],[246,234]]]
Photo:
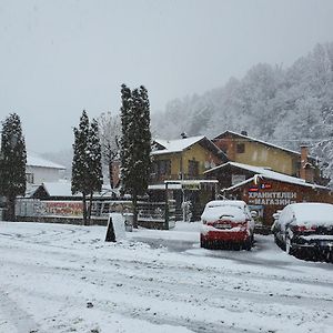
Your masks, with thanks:
[[[173,100],[153,115],[159,138],[244,130],[294,150],[309,144],[333,179],[333,43],[317,44],[290,68],[259,63],[241,80]]]

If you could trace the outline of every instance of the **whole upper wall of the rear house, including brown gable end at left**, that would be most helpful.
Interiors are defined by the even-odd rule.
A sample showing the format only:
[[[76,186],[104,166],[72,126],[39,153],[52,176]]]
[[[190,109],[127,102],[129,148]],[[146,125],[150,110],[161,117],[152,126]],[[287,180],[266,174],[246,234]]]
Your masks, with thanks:
[[[230,160],[255,167],[269,167],[274,171],[297,175],[300,159],[281,149],[266,147],[260,142],[246,141],[243,138],[224,138],[214,143],[226,152]],[[238,152],[238,144],[244,144],[244,152]]]

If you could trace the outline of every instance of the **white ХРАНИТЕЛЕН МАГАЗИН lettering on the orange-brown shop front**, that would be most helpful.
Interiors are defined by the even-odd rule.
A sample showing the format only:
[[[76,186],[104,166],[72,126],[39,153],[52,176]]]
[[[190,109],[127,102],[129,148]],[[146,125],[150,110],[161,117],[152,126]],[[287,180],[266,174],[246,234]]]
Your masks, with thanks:
[[[296,192],[251,192],[249,190],[249,204],[287,205],[295,203]]]

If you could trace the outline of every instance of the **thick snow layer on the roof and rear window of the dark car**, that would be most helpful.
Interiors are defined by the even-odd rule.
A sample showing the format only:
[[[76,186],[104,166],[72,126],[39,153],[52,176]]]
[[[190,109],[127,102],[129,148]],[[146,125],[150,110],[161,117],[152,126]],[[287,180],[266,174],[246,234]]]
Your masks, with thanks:
[[[333,204],[320,202],[300,202],[290,204],[295,223],[324,224],[333,226]]]

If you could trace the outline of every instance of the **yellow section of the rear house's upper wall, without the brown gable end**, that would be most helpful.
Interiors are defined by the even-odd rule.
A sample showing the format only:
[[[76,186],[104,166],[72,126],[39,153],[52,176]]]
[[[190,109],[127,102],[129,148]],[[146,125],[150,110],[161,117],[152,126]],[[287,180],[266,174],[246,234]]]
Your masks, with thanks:
[[[274,148],[269,148],[259,142],[235,141],[235,162],[251,164],[256,167],[268,167],[274,171],[295,175],[297,159],[290,153]],[[245,152],[236,152],[236,143],[245,144]]]

